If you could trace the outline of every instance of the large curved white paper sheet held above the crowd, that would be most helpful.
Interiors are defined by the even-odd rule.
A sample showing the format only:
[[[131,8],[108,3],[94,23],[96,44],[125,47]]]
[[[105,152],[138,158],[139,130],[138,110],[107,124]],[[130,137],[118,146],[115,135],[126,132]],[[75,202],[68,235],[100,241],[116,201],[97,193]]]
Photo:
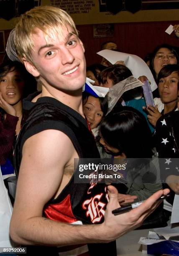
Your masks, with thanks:
[[[125,66],[131,70],[134,77],[138,78],[140,76],[146,76],[148,78],[148,80],[151,82],[152,92],[157,88],[151,70],[147,66],[146,62],[143,61],[143,59],[141,59],[139,56],[112,50],[102,50],[97,52],[97,54],[110,61],[111,64],[115,64],[120,60],[124,61]]]

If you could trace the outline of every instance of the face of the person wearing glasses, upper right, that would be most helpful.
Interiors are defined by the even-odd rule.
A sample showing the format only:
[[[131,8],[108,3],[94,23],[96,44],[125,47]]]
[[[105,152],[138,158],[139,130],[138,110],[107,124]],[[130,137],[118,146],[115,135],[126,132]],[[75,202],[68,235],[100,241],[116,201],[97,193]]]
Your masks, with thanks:
[[[161,58],[161,56],[164,55],[164,58]],[[169,58],[169,56],[174,56],[174,54],[171,53],[171,51],[168,48],[160,48],[159,51],[157,51],[156,56],[153,60],[153,69],[156,72],[156,77],[158,76],[160,70],[168,65],[168,64],[177,64],[176,57]]]

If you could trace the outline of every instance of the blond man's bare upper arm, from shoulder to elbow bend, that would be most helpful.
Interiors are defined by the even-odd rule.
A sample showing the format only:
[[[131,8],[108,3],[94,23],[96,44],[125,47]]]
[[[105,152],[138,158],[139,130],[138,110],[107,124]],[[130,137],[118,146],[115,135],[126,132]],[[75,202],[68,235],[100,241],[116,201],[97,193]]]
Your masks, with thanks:
[[[46,130],[28,138],[23,146],[15,205],[24,204],[31,212],[27,204],[32,207],[36,198],[36,210],[41,211],[58,191],[65,166],[74,159],[75,152],[61,131]]]

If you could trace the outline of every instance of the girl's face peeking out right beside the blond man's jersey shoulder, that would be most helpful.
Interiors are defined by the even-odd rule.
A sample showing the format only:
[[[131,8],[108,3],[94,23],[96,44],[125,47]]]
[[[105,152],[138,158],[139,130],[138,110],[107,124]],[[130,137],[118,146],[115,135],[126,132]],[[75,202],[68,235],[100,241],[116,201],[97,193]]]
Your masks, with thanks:
[[[90,123],[91,129],[96,128],[103,116],[99,98],[89,96],[87,102],[83,105],[83,112]]]

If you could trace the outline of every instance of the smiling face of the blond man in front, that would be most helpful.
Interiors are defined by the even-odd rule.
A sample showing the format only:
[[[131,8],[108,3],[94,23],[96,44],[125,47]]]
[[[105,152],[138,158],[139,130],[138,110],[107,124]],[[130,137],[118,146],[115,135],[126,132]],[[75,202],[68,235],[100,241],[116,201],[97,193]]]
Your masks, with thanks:
[[[68,92],[79,90],[86,79],[84,47],[71,27],[65,27],[63,36],[55,35],[46,41],[43,32],[36,28],[33,33],[34,48],[31,52],[34,69],[31,74],[49,85]]]

